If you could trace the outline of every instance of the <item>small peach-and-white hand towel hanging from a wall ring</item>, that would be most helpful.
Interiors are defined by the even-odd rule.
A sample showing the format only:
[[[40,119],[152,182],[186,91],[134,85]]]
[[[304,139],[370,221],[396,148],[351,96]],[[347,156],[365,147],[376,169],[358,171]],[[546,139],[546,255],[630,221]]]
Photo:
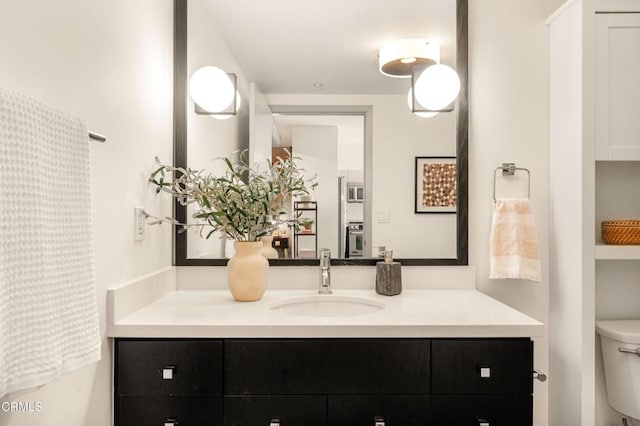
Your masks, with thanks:
[[[489,278],[540,281],[538,236],[528,199],[496,200],[489,239]]]

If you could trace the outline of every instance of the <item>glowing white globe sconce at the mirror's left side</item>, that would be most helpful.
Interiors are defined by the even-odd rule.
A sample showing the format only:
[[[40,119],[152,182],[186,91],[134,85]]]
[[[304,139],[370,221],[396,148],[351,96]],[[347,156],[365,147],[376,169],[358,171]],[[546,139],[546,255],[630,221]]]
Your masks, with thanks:
[[[236,115],[240,108],[236,75],[227,74],[218,67],[196,70],[189,79],[189,94],[199,115],[227,119]]]

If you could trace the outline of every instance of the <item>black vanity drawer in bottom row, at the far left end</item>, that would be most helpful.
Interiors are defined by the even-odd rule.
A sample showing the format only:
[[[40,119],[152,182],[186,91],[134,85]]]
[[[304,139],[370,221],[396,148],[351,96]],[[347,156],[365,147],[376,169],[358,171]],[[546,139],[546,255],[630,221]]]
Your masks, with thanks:
[[[116,404],[116,426],[222,424],[221,396],[121,396]]]

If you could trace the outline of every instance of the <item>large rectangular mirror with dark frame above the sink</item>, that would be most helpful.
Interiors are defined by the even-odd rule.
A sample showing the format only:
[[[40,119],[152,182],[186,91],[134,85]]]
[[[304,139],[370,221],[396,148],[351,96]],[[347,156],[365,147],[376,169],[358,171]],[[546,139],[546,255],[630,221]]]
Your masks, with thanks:
[[[174,164],[220,173],[212,161],[248,149],[252,161],[291,151],[318,187],[291,200],[273,265],[371,265],[392,249],[405,265],[466,265],[467,0],[307,2],[174,0]],[[378,71],[378,50],[401,38],[437,40],[461,90],[452,112],[411,112],[410,79]],[[240,106],[226,120],[197,115],[189,77],[214,65],[237,78]],[[410,99],[409,99],[410,100]],[[410,103],[410,102],[409,102]],[[448,166],[453,164],[453,169]],[[454,170],[453,208],[429,208],[427,170]],[[298,202],[296,202],[298,201]],[[191,211],[176,205],[175,217]],[[224,265],[229,244],[175,234],[176,265]]]

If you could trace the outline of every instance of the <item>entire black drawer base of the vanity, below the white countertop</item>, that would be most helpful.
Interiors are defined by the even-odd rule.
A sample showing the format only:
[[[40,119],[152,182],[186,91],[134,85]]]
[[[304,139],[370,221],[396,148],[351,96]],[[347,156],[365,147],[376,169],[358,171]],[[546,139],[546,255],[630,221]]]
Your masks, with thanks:
[[[529,339],[116,339],[115,424],[525,426]]]

